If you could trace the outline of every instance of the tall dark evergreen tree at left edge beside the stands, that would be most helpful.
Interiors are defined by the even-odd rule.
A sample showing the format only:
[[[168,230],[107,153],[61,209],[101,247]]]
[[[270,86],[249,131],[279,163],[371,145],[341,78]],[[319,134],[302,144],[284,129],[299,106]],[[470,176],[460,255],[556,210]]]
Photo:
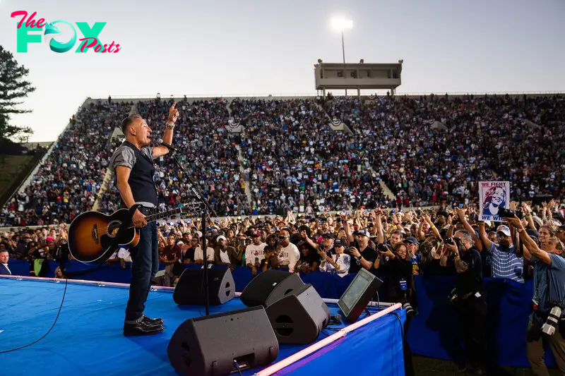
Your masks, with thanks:
[[[20,66],[10,51],[0,46],[0,145],[13,141],[27,142],[33,131],[28,126],[10,125],[11,114],[26,114],[29,109],[18,109],[21,99],[35,91],[25,80],[29,69]]]

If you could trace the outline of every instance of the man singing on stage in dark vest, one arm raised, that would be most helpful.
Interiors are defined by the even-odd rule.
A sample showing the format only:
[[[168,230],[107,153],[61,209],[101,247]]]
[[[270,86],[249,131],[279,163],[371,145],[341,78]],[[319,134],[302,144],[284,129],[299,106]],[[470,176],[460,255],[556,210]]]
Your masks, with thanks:
[[[173,103],[169,109],[167,129],[163,141],[172,143],[174,123],[179,111]],[[121,131],[126,140],[117,147],[110,159],[110,166],[116,174],[116,187],[121,195],[122,207],[134,204],[143,205],[133,213],[133,226],[141,229],[139,243],[130,250],[131,284],[129,300],[124,320],[124,335],[136,336],[156,334],[165,328],[160,318],[150,319],[143,314],[145,301],[151,288],[151,281],[159,269],[159,250],[157,248],[157,225],[145,220],[145,215],[157,210],[157,190],[153,183],[155,167],[153,159],[169,152],[167,147],[150,147],[151,128],[138,114],[131,114],[121,121]]]

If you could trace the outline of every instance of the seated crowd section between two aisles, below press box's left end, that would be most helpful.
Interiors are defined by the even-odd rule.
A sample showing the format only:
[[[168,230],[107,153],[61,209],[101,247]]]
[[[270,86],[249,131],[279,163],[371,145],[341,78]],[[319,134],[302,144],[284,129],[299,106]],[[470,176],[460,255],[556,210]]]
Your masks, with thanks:
[[[369,152],[358,138],[333,132],[313,99],[234,99],[244,125],[253,214],[375,207],[383,198]]]

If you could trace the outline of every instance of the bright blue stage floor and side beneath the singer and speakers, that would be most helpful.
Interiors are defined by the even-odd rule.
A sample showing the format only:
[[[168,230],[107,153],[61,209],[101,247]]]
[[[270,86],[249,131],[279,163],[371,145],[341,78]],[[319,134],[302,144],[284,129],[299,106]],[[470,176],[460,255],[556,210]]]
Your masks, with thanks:
[[[30,344],[49,330],[57,316],[64,286],[64,280],[0,278],[0,351]],[[175,304],[172,291],[151,291],[145,313],[162,317],[165,332],[125,337],[122,326],[128,293],[126,287],[69,282],[52,332],[28,348],[0,353],[0,375],[177,375],[167,357],[169,339],[184,320],[203,315],[204,308]],[[338,313],[337,305],[328,307],[332,315]],[[244,305],[234,298],[224,305],[210,307],[210,314],[239,308]],[[403,322],[403,310],[395,312]],[[359,320],[363,317],[365,314]],[[318,341],[334,333],[326,329]],[[308,346],[280,345],[276,361]],[[379,358],[383,358],[382,362]],[[361,367],[362,363],[367,366]],[[242,373],[253,375],[258,370],[261,368]],[[404,375],[400,324],[395,315],[383,315],[275,375],[353,370],[357,375]]]

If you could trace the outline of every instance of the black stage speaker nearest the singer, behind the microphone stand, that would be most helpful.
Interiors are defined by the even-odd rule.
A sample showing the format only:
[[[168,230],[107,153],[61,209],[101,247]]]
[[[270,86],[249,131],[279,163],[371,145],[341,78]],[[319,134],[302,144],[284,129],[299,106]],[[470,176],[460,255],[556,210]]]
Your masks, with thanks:
[[[184,305],[204,304],[204,269],[184,269],[172,298],[174,303]],[[208,297],[210,305],[220,305],[234,298],[235,282],[228,268],[208,269]]]

